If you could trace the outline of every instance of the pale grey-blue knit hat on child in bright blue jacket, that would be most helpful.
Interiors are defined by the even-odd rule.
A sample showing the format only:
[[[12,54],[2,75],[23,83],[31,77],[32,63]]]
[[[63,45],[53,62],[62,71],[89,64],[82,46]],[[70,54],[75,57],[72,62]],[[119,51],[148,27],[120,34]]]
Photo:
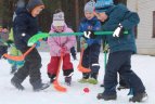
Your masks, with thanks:
[[[87,2],[87,3],[85,4],[85,9],[83,9],[85,12],[90,12],[90,13],[92,13],[93,10],[94,10],[94,4],[95,4],[95,2],[94,2],[93,0]]]

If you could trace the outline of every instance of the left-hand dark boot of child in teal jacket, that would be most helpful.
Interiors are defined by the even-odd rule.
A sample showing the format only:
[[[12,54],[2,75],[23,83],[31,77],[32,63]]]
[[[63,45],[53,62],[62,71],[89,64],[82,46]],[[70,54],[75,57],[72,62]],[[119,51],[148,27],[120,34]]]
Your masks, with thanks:
[[[96,96],[98,100],[103,99],[104,101],[109,101],[109,100],[116,100],[117,95],[116,94],[112,94],[112,95],[104,95],[103,93],[99,93]]]

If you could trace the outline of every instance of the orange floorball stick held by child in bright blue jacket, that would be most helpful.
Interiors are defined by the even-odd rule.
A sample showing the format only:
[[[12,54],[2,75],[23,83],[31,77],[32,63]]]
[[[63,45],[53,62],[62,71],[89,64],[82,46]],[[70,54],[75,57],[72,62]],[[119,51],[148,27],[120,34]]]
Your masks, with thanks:
[[[81,73],[90,73],[91,72],[91,69],[89,69],[89,68],[85,68],[82,65],[81,65],[81,63],[82,63],[82,55],[83,55],[83,49],[81,49],[81,52],[80,52],[80,61],[79,61],[79,64],[78,64],[78,70],[79,72],[81,72]]]

